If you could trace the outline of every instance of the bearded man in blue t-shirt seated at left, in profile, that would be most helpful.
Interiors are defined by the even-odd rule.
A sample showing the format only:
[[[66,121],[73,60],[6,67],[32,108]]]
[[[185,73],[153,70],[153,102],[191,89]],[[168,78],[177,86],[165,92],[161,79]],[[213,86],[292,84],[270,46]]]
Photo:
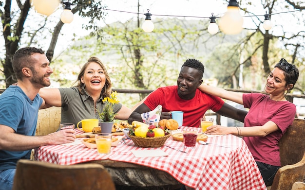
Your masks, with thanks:
[[[38,109],[45,104],[38,91],[50,86],[49,60],[38,48],[21,48],[13,57],[18,86],[0,95],[0,190],[11,190],[19,159],[30,159],[31,150],[44,145],[73,142],[73,129],[35,136]]]

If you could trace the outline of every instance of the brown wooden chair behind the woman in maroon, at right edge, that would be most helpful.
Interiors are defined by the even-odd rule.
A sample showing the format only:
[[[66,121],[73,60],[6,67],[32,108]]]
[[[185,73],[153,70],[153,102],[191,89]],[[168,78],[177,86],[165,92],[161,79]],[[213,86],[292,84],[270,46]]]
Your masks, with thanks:
[[[305,178],[305,120],[294,119],[279,141],[281,168],[267,190],[291,190],[296,181]],[[301,161],[300,161],[301,160]]]

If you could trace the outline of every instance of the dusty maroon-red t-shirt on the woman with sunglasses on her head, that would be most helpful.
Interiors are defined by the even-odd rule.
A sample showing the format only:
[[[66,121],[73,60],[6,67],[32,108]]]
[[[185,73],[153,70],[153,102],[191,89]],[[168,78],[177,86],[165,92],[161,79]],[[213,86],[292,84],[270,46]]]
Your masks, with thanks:
[[[254,159],[273,166],[281,166],[279,140],[292,124],[296,106],[288,101],[273,101],[261,93],[243,94],[244,106],[249,108],[244,126],[262,126],[273,121],[280,130],[266,137],[244,137]]]

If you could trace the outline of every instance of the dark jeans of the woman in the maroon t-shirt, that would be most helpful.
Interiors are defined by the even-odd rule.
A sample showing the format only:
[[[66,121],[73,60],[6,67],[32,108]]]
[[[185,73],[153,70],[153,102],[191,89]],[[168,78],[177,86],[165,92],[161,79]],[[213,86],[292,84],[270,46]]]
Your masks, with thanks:
[[[260,170],[266,186],[272,185],[275,173],[280,169],[280,166],[272,166],[263,162],[257,162],[258,169]]]

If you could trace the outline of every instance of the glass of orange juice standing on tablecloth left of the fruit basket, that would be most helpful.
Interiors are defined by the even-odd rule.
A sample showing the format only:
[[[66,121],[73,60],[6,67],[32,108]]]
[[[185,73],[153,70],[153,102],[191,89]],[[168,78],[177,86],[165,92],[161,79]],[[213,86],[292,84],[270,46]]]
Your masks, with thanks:
[[[95,135],[95,143],[97,153],[100,155],[108,155],[111,151],[111,134],[100,133]]]

